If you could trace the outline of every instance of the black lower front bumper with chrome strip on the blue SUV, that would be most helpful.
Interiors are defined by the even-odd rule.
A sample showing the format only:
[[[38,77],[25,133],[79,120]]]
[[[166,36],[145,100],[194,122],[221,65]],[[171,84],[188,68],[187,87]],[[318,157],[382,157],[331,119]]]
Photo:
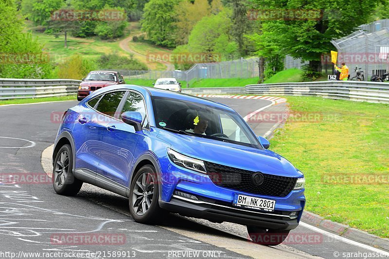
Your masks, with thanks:
[[[265,229],[291,230],[299,225],[297,218],[291,218],[280,212],[266,213],[248,211],[215,203],[212,200],[195,201],[173,195],[170,202],[159,200],[159,207],[182,216],[206,219],[212,222],[232,222],[253,225]]]

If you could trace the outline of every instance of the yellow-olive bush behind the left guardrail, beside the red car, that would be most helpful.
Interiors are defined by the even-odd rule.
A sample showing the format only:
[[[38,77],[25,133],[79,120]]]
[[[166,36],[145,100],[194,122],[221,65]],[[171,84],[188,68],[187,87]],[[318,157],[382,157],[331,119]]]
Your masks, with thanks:
[[[57,77],[64,79],[82,79],[89,71],[95,70],[96,65],[93,61],[83,59],[79,55],[72,55],[58,66]]]

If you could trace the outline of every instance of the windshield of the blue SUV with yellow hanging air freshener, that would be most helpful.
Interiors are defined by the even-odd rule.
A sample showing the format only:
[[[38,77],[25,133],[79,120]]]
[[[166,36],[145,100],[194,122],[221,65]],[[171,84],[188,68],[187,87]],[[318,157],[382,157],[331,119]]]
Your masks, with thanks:
[[[160,129],[262,148],[236,112],[178,99],[152,97],[152,100],[156,125]]]

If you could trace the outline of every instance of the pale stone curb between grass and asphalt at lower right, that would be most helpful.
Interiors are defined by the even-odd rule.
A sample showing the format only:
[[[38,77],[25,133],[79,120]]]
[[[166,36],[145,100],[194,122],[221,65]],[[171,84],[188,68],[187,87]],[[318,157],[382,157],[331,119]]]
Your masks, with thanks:
[[[304,211],[302,213],[301,220],[304,221],[304,223],[319,226],[329,232],[338,234],[339,236],[389,251],[389,239],[387,238],[380,238],[371,235],[368,232],[350,227],[349,225],[326,220],[309,211]]]

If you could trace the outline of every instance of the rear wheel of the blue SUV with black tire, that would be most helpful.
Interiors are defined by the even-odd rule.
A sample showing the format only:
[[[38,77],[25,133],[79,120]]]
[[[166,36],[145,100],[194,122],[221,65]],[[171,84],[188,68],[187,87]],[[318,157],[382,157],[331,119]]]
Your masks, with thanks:
[[[74,177],[71,172],[73,168],[73,156],[71,146],[63,145],[54,159],[53,166],[53,188],[60,195],[76,195],[83,182]]]

